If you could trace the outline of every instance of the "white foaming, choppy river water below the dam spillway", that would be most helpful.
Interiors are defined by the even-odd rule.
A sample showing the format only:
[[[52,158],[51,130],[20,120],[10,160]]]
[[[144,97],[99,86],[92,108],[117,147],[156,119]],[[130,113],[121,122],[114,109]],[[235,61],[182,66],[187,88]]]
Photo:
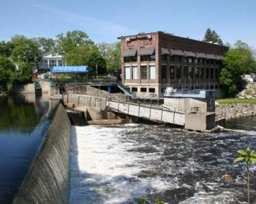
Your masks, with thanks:
[[[152,124],[73,126],[70,204],[138,203],[143,194],[148,203],[246,203],[244,164],[233,161],[236,150],[256,149],[255,122],[231,120],[227,128],[246,132],[212,134]]]

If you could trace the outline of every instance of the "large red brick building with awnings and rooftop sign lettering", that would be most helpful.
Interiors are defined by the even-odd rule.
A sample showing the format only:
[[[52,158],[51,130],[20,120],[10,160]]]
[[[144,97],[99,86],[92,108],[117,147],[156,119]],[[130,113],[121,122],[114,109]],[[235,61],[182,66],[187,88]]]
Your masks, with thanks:
[[[166,87],[220,89],[228,47],[154,32],[122,36],[122,82],[138,96],[162,96]]]

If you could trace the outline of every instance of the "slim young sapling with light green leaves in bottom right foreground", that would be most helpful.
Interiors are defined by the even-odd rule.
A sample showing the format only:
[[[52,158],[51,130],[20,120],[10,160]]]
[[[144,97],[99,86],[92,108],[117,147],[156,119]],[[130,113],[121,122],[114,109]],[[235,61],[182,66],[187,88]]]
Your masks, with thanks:
[[[247,196],[248,196],[248,203],[250,203],[250,171],[249,171],[249,164],[250,162],[256,162],[256,154],[255,152],[247,147],[246,150],[238,150],[238,157],[234,160],[234,163],[244,162],[247,171]]]

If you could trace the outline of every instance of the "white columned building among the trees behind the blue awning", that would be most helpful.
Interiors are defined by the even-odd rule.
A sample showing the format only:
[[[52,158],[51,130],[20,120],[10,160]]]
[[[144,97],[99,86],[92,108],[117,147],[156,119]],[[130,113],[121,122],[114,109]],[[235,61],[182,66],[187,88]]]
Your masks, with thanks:
[[[39,70],[51,70],[52,66],[66,66],[63,62],[63,55],[47,52],[42,56],[39,64]]]

